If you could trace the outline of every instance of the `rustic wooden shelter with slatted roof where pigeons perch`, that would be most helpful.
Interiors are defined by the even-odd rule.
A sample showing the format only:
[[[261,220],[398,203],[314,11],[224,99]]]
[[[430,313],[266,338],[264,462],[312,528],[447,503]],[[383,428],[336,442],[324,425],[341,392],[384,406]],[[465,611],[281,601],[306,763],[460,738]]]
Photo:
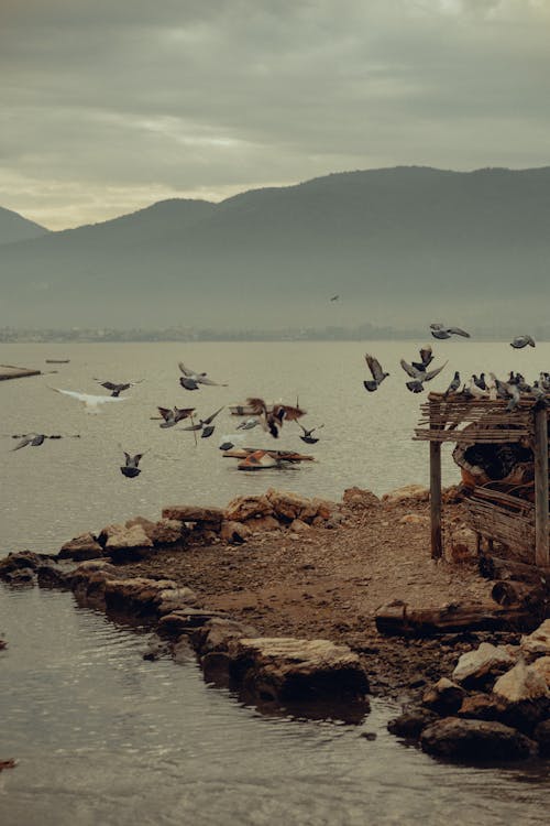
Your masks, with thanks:
[[[472,485],[465,500],[469,519],[490,547],[499,542],[519,551],[530,564],[550,566],[549,556],[549,411],[521,398],[507,411],[503,400],[430,393],[421,406],[415,438],[430,445],[431,555],[443,554],[441,530],[441,445],[520,444],[532,453],[531,478],[524,483],[499,480]]]

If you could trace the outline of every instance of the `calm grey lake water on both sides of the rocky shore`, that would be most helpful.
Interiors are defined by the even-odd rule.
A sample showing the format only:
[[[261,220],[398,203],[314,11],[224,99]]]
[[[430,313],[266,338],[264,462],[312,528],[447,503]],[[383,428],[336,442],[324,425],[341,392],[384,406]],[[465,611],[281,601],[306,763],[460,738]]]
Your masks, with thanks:
[[[156,518],[167,503],[223,504],[271,485],[340,498],[350,485],[380,493],[426,482],[426,446],[410,441],[419,399],[404,389],[398,367],[415,349],[407,343],[3,346],[3,363],[47,369],[45,358],[70,358],[52,366],[57,374],[0,383],[3,433],[80,438],[15,453],[2,439],[0,553],[55,551],[90,528],[135,513]],[[530,376],[550,366],[549,345],[513,352],[507,345],[451,341],[437,349],[450,363],[436,389],[444,389],[451,368]],[[372,395],[361,384],[365,350],[392,373]],[[230,387],[185,392],[178,360]],[[47,388],[95,392],[92,377],[145,381],[98,415]],[[197,447],[193,434],[161,431],[150,419],[156,404],[193,401],[209,415],[250,394],[288,402],[299,394],[305,423],[324,423],[310,448],[319,461],[241,474],[218,450],[219,436],[234,432],[226,411],[212,438]],[[298,433],[285,425],[280,447],[301,447]],[[118,443],[150,450],[139,478],[120,475]],[[257,430],[246,444],[275,445]],[[449,457],[447,477],[457,477]],[[2,825],[547,822],[550,789],[540,767],[439,764],[386,733],[396,709],[380,702],[358,727],[263,718],[206,687],[193,662],[143,661],[143,634],[77,608],[69,594],[0,587],[0,637],[9,641],[0,654],[0,759],[19,760],[0,774]],[[361,737],[365,731],[376,740]]]

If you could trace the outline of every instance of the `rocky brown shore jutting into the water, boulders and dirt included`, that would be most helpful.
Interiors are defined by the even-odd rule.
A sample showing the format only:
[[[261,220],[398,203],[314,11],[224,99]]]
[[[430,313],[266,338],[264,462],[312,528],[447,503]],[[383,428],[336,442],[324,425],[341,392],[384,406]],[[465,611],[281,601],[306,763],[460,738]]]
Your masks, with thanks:
[[[11,554],[0,577],[70,588],[80,604],[151,622],[145,656],[189,645],[209,682],[260,707],[361,719],[369,694],[404,706],[397,736],[453,759],[548,756],[550,621],[388,637],[381,606],[494,611],[461,493],[444,494],[447,556],[429,555],[428,491],[342,502],[268,490],[226,509],[173,506],[67,542]],[[527,621],[532,619],[531,622]],[[527,627],[526,627],[527,623]],[[530,624],[530,627],[529,627]],[[530,632],[530,635],[529,635]]]

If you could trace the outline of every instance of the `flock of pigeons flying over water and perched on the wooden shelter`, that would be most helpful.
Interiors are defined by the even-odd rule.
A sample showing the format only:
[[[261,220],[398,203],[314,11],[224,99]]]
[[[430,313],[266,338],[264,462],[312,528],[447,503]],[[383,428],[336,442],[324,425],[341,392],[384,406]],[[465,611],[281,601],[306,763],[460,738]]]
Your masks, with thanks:
[[[330,301],[338,301],[338,298],[339,296],[334,295]],[[432,337],[438,340],[448,339],[451,338],[451,336],[470,338],[470,334],[460,327],[447,327],[443,324],[431,324],[430,333]],[[514,349],[522,349],[525,347],[535,347],[536,345],[531,336],[521,335],[516,336],[510,341],[510,346]],[[407,376],[405,387],[411,393],[424,392],[425,384],[439,376],[448,363],[444,361],[439,367],[431,367],[435,356],[430,345],[421,347],[419,356],[419,360],[406,361],[402,358],[399,362]],[[372,378],[364,380],[363,384],[365,390],[372,393],[378,390],[385,379],[388,378],[389,373],[382,368],[381,362],[374,356],[366,354],[365,360]],[[201,387],[228,387],[226,383],[210,379],[207,372],[193,370],[182,361],[178,362],[178,367],[180,371],[179,384],[186,391],[197,391]],[[531,383],[528,383],[521,373],[514,371],[509,373],[506,380],[497,379],[493,372],[490,372],[488,377],[490,378],[487,379],[484,372],[480,376],[473,374],[469,383],[465,384],[462,383],[459,371],[455,371],[444,395],[461,395],[464,399],[503,399],[507,401],[508,411],[514,411],[518,406],[522,394],[529,394],[541,404],[547,404],[547,401],[550,398],[550,373],[548,372],[541,372],[538,379]],[[94,380],[108,390],[109,394],[81,393],[75,390],[64,390],[61,388],[51,388],[51,390],[82,403],[88,412],[98,412],[105,404],[125,401],[127,396],[122,395],[122,393],[143,381],[143,379],[140,379],[138,381],[113,382],[102,381],[97,378]],[[195,407],[174,406],[170,409],[158,406],[157,411],[160,415],[154,416],[154,419],[161,420],[161,428],[175,427],[180,422],[189,420],[190,424],[180,427],[179,430],[193,432],[195,443],[197,444],[198,433],[200,433],[200,438],[209,438],[213,434],[216,428],[215,420],[222,410],[223,406],[218,407],[218,410],[210,415],[196,420],[194,415],[196,411]],[[296,422],[301,430],[299,438],[308,445],[314,445],[319,442],[319,437],[314,434],[324,426],[323,424],[320,424],[316,427],[305,427],[298,420],[306,414],[306,411],[300,407],[298,401],[296,402],[296,405],[283,403],[268,405],[263,399],[253,396],[246,399],[246,410],[250,416],[237,426],[237,431],[251,431],[254,427],[262,427],[274,438],[277,438],[285,422]],[[73,434],[70,437],[78,438],[79,434]],[[28,446],[38,447],[44,444],[45,439],[59,439],[63,438],[63,436],[46,435],[44,433],[26,433],[14,435],[13,438],[20,441],[12,449],[20,450]],[[239,436],[235,434],[235,439],[237,438],[239,438]],[[233,446],[234,443],[229,441],[224,441],[220,444],[220,448],[223,450],[228,450]],[[119,445],[119,447],[124,454],[124,465],[120,467],[122,475],[127,478],[135,478],[141,472],[140,461],[146,452],[131,455],[127,453],[122,446]]]

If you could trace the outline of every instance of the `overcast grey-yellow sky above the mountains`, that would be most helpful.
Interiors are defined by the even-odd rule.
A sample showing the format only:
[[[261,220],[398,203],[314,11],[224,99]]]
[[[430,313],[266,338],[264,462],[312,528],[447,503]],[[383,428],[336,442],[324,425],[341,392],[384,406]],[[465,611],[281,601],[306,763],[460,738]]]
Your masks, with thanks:
[[[550,0],[0,0],[0,206],[550,163]]]

